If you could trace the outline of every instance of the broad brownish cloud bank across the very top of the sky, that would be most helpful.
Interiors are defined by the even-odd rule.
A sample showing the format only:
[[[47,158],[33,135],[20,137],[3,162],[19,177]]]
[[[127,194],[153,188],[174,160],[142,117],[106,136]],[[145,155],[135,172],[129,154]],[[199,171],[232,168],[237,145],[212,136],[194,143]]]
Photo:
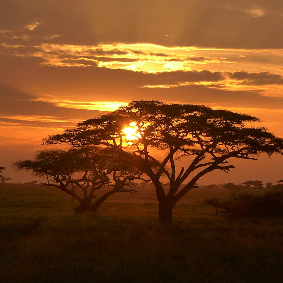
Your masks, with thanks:
[[[281,48],[282,8],[282,1],[264,0],[4,0],[0,21],[2,30],[26,36],[33,45],[146,42],[165,46]],[[26,26],[34,22],[40,24],[28,30]]]

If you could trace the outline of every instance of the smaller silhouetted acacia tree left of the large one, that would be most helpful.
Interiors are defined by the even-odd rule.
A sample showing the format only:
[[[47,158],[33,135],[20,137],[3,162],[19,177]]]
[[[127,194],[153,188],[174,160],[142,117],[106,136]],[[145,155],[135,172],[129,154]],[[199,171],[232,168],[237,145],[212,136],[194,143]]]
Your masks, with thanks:
[[[13,165],[17,170],[45,176],[47,182],[43,186],[56,187],[72,196],[80,203],[76,212],[96,211],[115,192],[136,192],[133,180],[148,181],[125,158],[94,147],[42,150],[34,160],[17,161]],[[113,186],[113,189],[99,198],[94,196],[104,185]],[[93,199],[97,200],[93,202]]]

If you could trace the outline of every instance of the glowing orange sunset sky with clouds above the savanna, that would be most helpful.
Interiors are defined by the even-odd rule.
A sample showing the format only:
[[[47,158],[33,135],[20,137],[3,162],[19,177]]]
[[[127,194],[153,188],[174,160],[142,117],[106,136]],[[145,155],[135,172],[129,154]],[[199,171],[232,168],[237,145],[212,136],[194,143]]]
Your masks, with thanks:
[[[279,0],[0,0],[0,166],[132,100],[202,104],[283,137]],[[283,178],[283,156],[233,161],[202,184]]]

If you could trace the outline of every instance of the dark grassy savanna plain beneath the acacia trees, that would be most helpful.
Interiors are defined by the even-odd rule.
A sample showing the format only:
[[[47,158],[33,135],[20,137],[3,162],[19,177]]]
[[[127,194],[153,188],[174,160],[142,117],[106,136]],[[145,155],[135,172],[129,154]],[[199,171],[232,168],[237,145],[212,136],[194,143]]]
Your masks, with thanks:
[[[114,194],[96,214],[55,188],[0,185],[1,282],[282,282],[283,219],[231,219],[199,188],[157,221],[154,189]]]

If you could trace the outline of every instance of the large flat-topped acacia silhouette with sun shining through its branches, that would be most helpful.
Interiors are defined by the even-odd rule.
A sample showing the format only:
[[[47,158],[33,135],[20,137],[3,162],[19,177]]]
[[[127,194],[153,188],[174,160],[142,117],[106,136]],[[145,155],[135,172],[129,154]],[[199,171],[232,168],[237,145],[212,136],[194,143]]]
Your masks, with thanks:
[[[282,139],[265,128],[253,127],[258,118],[226,110],[191,104],[164,104],[160,101],[133,101],[110,114],[86,120],[63,134],[49,136],[45,144],[69,143],[75,148],[100,145],[128,158],[152,180],[159,203],[159,220],[172,221],[175,204],[208,172],[228,172],[230,158],[253,159],[262,152],[283,153]],[[125,128],[135,131],[125,142]],[[164,152],[163,160],[154,150]],[[186,167],[175,163],[187,158]],[[160,181],[169,181],[165,192]],[[183,184],[183,186],[181,186]]]

